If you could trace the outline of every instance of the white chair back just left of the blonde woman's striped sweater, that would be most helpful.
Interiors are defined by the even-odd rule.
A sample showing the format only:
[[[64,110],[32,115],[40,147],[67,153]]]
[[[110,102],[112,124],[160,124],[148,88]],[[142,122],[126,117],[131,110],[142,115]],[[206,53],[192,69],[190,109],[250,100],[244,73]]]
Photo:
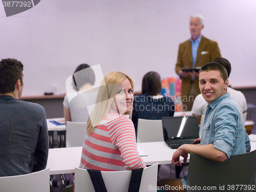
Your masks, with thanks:
[[[84,122],[67,121],[66,147],[82,146],[86,138],[86,125]]]

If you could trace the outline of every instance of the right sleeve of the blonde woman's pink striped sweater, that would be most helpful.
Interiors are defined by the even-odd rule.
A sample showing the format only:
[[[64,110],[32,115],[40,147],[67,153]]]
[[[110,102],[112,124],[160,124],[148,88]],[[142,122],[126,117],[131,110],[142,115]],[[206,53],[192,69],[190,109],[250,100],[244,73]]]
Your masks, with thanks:
[[[137,150],[134,125],[127,117],[118,117],[109,124],[113,145],[119,149],[127,170],[146,167]]]

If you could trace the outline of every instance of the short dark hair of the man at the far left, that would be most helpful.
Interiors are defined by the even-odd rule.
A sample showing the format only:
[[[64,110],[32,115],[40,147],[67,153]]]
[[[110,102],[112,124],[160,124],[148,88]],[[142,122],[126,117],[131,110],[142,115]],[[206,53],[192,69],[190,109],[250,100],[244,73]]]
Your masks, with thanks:
[[[0,61],[0,93],[12,93],[15,91],[15,85],[20,79],[22,86],[23,64],[17,59],[7,58]]]

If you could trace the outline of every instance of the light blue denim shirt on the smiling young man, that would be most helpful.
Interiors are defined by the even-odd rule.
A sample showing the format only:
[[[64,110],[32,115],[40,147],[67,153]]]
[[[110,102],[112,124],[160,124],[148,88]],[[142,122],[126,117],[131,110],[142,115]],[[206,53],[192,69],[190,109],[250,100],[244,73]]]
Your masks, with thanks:
[[[213,144],[228,158],[250,151],[250,140],[242,113],[237,101],[231,98],[229,93],[207,105],[201,145],[207,144]],[[183,176],[182,183],[187,184],[187,173]]]

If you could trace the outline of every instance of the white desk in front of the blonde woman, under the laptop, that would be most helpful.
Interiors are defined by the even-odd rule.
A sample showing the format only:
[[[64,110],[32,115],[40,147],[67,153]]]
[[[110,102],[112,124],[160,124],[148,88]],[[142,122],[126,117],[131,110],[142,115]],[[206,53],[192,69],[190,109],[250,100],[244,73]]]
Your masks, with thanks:
[[[147,154],[141,157],[146,165],[170,164],[175,150],[169,148],[165,142],[137,143],[138,147]],[[251,142],[251,151],[256,150],[256,142]],[[50,175],[75,173],[75,167],[79,167],[82,147],[50,148],[47,168]],[[181,157],[181,162],[183,159]],[[189,162],[189,156],[187,159]]]

